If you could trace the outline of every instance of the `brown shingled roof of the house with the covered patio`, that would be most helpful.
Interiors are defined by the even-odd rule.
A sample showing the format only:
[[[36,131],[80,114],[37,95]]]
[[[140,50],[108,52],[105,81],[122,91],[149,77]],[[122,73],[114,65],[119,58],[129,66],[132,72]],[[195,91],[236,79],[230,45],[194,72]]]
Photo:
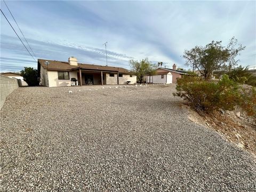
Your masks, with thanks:
[[[49,65],[45,65],[45,61],[49,61]],[[113,71],[119,72],[123,74],[130,74],[130,71],[124,69],[122,67],[110,67],[110,66],[100,66],[100,65],[91,65],[86,63],[77,63],[77,66],[69,65],[68,62],[65,61],[53,61],[53,60],[45,60],[38,59],[38,63],[47,70],[62,70],[62,71],[71,71],[77,69],[84,70],[99,70],[99,71]]]

